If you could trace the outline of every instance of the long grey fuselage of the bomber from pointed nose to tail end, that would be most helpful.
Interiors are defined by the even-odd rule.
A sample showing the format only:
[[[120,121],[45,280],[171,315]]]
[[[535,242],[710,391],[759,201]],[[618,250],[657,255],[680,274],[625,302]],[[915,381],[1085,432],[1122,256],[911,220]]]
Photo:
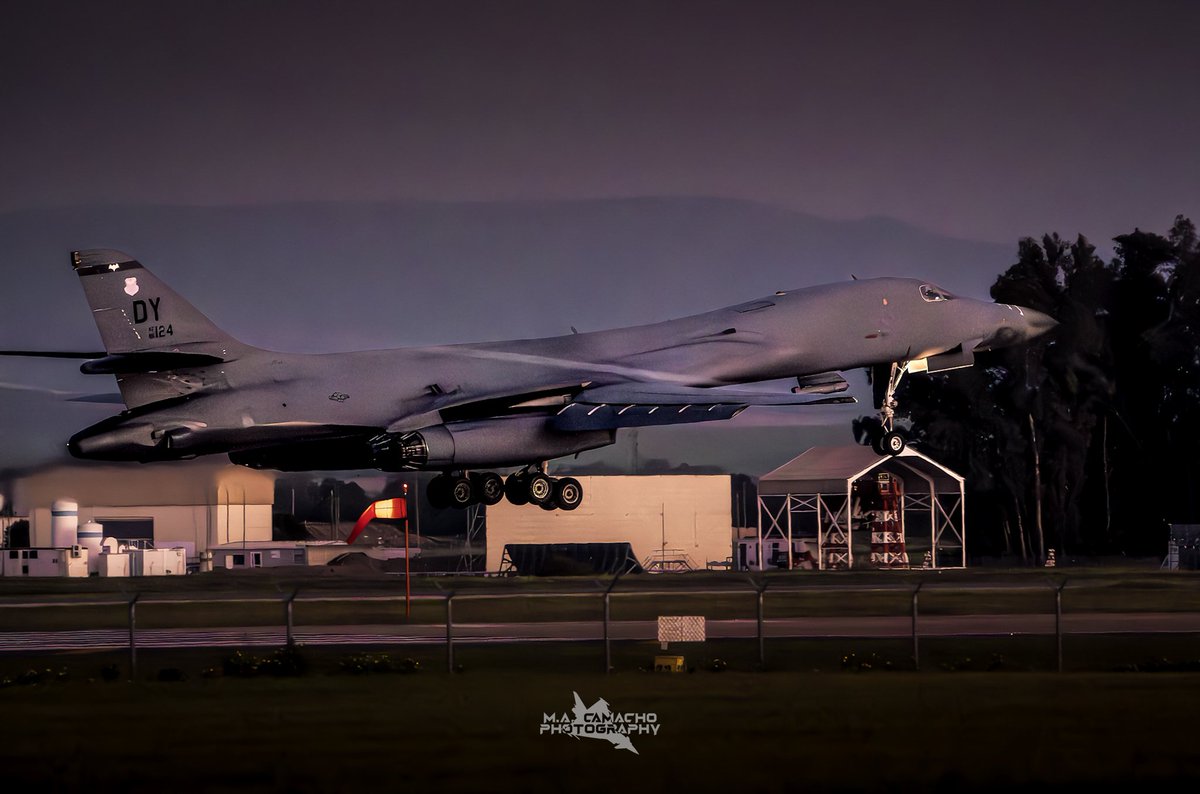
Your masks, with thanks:
[[[1030,309],[948,296],[926,282],[875,278],[540,339],[316,355],[235,343],[216,351],[223,359],[217,363],[119,373],[132,408],[76,434],[70,449],[78,457],[133,461],[245,452],[239,462],[274,468],[288,468],[296,455],[306,465],[308,450],[331,463],[313,468],[386,468],[390,458],[378,449],[364,456],[365,439],[443,428],[426,433],[422,441],[431,441],[449,428],[443,446],[450,457],[426,450],[403,468],[515,464],[612,443],[611,429],[546,427],[546,417],[586,387],[803,377],[1018,343],[1048,323]],[[474,440],[467,443],[469,432]],[[254,453],[294,444],[301,447]]]

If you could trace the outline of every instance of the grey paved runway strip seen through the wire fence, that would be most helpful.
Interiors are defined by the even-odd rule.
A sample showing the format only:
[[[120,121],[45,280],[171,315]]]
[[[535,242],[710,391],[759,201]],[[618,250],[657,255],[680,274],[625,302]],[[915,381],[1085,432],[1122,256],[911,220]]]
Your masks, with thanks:
[[[654,640],[654,620],[612,621],[614,640]],[[709,638],[752,638],[755,620],[708,620]],[[1200,614],[1193,613],[1081,613],[1063,616],[1068,634],[1200,633]],[[767,620],[768,638],[895,638],[912,636],[907,615],[868,618],[782,618]],[[1052,634],[1052,614],[929,615],[918,621],[919,637],[1003,637]],[[295,642],[305,645],[414,645],[446,642],[444,624],[296,626]],[[455,643],[588,642],[604,638],[600,621],[455,624]],[[227,628],[139,628],[138,648],[250,648],[277,646],[287,640],[283,626]],[[80,631],[0,632],[0,652],[102,650],[127,648],[127,628]]]

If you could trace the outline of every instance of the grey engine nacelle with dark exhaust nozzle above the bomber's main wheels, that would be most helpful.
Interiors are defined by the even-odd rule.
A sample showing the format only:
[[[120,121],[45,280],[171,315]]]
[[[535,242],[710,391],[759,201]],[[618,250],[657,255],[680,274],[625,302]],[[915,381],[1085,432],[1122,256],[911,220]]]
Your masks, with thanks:
[[[565,433],[545,416],[508,416],[437,425],[371,440],[372,462],[383,471],[523,465],[612,444],[616,431]]]

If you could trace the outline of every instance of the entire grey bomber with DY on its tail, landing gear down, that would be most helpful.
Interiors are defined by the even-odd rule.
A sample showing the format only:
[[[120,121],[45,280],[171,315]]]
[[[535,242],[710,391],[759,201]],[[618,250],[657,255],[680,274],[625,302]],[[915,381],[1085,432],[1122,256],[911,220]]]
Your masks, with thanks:
[[[290,354],[244,344],[118,251],[71,254],[126,410],[79,433],[72,455],[172,461],[228,453],[284,471],[436,470],[436,504],[574,510],[578,481],[546,462],[625,427],[704,422],[750,405],[853,402],[839,371],[876,367],[880,453],[899,453],[906,372],[970,366],[979,350],[1055,325],[1032,309],[959,297],[910,278],[779,291],[683,319],[544,339]],[[29,355],[26,351],[25,355]],[[730,390],[796,378],[790,392]],[[719,389],[725,386],[726,389]],[[490,471],[518,468],[506,479]]]

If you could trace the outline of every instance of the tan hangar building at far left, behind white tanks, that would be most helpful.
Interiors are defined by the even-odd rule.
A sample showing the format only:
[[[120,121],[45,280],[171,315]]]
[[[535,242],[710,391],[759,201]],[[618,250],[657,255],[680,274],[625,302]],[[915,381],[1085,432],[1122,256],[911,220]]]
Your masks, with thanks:
[[[271,540],[275,475],[230,463],[64,464],[4,483],[13,512],[29,517],[30,546],[52,546],[50,506],[79,505],[79,524],[96,521],[103,535],[184,547],[190,563],[222,543]]]

